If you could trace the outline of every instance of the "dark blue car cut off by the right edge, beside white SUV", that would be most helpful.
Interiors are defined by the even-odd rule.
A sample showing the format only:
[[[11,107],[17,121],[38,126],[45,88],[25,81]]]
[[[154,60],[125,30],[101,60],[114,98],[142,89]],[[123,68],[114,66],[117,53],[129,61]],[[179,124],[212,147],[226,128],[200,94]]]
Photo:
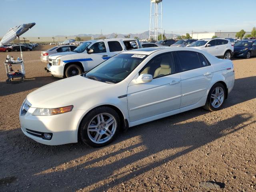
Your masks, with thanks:
[[[256,40],[242,40],[234,44],[234,57],[256,56]]]

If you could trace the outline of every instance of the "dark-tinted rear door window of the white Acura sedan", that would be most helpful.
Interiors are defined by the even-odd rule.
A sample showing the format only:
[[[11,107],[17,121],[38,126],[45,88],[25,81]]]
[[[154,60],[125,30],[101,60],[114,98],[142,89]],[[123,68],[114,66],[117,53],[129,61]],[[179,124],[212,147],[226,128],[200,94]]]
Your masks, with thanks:
[[[188,71],[201,67],[199,57],[196,52],[179,51],[177,52],[180,61],[181,71]]]

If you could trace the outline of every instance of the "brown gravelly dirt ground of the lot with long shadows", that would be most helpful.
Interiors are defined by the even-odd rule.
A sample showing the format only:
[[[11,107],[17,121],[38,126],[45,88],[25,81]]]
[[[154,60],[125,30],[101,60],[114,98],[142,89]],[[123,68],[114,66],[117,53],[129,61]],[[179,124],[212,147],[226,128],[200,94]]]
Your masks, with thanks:
[[[6,55],[0,53],[0,191],[256,191],[256,58],[233,61],[235,87],[222,110],[198,108],[142,124],[90,148],[24,136],[24,98],[58,79],[32,51],[24,52],[27,79],[6,84]],[[198,188],[201,181],[222,189]]]

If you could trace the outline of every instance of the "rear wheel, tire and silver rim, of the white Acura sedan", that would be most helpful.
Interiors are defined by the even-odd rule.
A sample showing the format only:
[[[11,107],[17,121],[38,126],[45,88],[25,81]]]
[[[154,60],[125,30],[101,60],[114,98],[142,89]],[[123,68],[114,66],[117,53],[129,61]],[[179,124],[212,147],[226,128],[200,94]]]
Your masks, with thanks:
[[[209,111],[217,111],[222,107],[225,98],[226,89],[224,85],[221,83],[216,83],[210,89],[206,104],[203,106],[203,108]]]

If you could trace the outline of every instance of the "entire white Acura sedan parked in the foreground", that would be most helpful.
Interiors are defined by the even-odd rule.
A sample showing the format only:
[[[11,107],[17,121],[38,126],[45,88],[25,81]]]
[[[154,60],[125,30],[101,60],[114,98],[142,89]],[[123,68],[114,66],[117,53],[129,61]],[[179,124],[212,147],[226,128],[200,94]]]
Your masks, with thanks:
[[[201,106],[219,110],[233,86],[231,60],[194,48],[137,49],[28,94],[20,124],[42,144],[101,147],[128,127]]]

